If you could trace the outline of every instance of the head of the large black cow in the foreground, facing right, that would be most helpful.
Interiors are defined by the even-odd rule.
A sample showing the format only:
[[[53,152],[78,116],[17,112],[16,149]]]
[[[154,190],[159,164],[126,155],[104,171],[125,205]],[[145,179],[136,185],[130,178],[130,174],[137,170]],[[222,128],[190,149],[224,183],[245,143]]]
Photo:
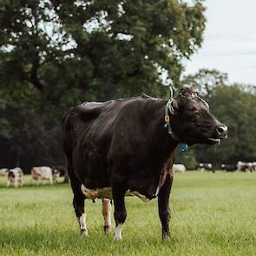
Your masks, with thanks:
[[[226,125],[210,113],[207,102],[191,89],[181,89],[179,95],[174,97],[171,112],[174,135],[188,145],[213,145],[226,138]]]

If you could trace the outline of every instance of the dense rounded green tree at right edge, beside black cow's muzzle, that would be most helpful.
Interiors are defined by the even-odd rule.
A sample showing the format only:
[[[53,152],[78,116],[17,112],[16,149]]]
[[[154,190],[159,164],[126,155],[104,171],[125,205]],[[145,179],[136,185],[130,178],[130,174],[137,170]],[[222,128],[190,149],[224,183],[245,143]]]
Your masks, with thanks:
[[[228,127],[228,139],[216,148],[198,151],[202,160],[213,162],[255,161],[256,95],[241,85],[219,86],[208,98],[211,111]]]

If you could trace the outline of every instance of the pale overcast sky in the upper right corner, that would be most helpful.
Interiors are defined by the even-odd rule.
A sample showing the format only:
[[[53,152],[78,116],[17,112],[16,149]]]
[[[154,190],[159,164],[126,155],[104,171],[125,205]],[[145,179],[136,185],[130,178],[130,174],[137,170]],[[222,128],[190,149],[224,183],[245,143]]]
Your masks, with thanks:
[[[206,0],[204,43],[186,74],[218,69],[229,82],[256,85],[256,0]]]

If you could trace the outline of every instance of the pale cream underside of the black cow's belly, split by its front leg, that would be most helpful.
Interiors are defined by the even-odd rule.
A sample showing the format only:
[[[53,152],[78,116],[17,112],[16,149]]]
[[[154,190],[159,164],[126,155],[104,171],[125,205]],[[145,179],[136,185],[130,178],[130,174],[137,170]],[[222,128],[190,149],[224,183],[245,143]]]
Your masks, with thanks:
[[[85,195],[86,199],[103,199],[103,198],[108,198],[112,200],[112,189],[111,187],[102,187],[102,188],[97,188],[97,189],[89,189],[87,187],[84,187],[82,185],[82,194]],[[140,194],[137,191],[130,191],[125,194],[125,196],[137,196],[144,202],[148,202],[150,199],[147,198],[146,195]]]

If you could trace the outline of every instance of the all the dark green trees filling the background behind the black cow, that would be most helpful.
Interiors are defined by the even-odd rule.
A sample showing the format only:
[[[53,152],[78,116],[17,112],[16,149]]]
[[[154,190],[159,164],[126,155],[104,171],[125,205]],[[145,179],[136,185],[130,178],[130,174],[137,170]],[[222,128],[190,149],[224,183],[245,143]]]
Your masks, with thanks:
[[[6,0],[0,23],[0,167],[63,165],[67,108],[142,93],[167,99],[167,85],[198,90],[229,127],[221,147],[178,160],[256,159],[253,86],[230,85],[217,70],[182,75],[203,41],[201,1]]]

